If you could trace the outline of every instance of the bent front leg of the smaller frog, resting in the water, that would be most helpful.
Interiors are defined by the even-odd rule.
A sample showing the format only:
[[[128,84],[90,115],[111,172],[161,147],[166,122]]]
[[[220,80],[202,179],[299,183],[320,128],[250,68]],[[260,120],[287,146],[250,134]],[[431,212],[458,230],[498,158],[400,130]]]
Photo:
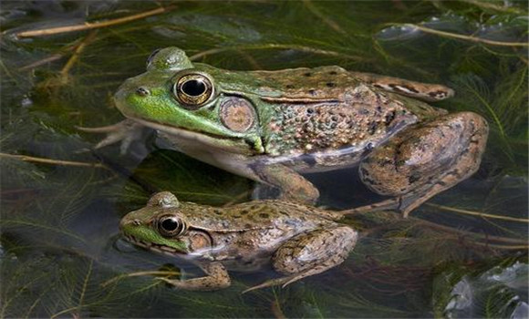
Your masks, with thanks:
[[[207,276],[186,280],[172,280],[167,278],[156,278],[165,283],[170,283],[176,288],[183,290],[217,290],[230,286],[232,280],[221,262],[211,262],[203,265],[202,271]]]

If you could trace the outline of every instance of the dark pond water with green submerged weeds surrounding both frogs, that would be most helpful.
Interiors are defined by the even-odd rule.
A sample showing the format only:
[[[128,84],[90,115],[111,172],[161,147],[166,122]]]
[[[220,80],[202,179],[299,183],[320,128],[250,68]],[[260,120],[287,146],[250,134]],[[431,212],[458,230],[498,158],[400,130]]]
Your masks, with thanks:
[[[125,24],[16,38],[26,30],[135,15],[160,4],[3,1],[1,316],[524,316],[527,12],[516,2],[487,4],[164,2],[175,7]],[[511,45],[476,42],[472,35]],[[213,293],[123,276],[160,269],[182,278],[202,274],[119,238],[120,217],[144,205],[151,192],[171,190],[181,201],[223,205],[246,201],[253,189],[249,180],[163,149],[151,134],[126,155],[117,146],[89,150],[100,137],[76,126],[121,120],[109,97],[163,46],[180,46],[196,61],[228,69],[339,65],[447,84],[456,97],[436,106],[472,110],[491,125],[482,168],[409,220],[394,212],[347,220],[364,233],[347,261],[285,289],[241,294],[274,276],[272,270],[232,273],[233,286]],[[330,209],[381,199],[355,169],[308,178]],[[509,280],[483,280],[487,275]],[[464,307],[457,299],[463,286],[469,288]],[[464,309],[451,310],[458,306]]]

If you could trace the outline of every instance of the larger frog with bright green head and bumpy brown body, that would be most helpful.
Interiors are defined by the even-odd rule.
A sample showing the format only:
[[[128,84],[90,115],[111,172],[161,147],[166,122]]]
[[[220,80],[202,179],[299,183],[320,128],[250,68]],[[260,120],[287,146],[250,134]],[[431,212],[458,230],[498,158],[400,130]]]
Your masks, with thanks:
[[[370,190],[390,196],[358,211],[406,216],[479,168],[487,122],[420,100],[452,95],[448,87],[341,67],[229,71],[167,47],[119,87],[116,106],[129,119],[89,130],[109,133],[98,147],[122,139],[126,148],[140,127],[157,129],[193,158],[305,203],[319,193],[300,173],[358,166]]]

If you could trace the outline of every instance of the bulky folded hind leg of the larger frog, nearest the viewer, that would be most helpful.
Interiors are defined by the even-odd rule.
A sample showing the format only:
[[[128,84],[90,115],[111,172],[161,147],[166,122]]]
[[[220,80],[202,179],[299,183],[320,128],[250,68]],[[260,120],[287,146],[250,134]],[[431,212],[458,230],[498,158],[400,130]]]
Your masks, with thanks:
[[[481,116],[449,114],[389,139],[360,163],[360,178],[370,190],[398,196],[407,215],[478,170],[487,135]]]

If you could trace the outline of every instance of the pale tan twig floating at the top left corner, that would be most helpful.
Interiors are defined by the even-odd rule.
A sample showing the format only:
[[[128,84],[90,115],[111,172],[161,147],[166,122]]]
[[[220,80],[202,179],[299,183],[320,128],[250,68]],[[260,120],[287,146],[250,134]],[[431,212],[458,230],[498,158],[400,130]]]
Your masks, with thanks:
[[[123,16],[117,19],[96,22],[96,23],[86,22],[83,25],[58,26],[58,27],[52,27],[52,28],[40,29],[40,30],[22,31],[22,32],[17,33],[16,36],[17,37],[50,36],[50,35],[57,35],[61,33],[67,33],[67,32],[84,31],[84,30],[97,29],[97,28],[106,27],[106,26],[115,26],[115,25],[124,24],[126,22],[134,21],[134,20],[139,20],[139,19],[145,18],[150,15],[160,15],[164,12],[171,10],[172,8],[173,6],[160,7],[160,8],[156,8],[154,10],[143,12],[137,15]]]

